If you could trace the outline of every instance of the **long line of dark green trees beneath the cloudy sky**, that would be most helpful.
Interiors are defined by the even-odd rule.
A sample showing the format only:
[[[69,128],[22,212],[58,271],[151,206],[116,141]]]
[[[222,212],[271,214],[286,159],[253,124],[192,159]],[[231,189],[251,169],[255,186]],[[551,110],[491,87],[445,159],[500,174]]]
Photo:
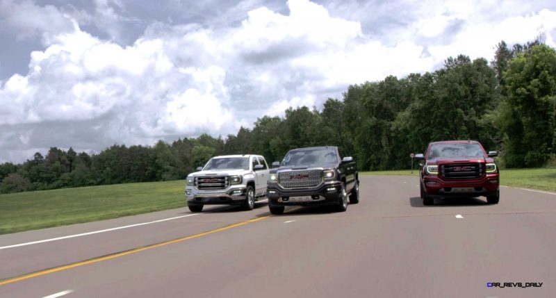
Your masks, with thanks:
[[[0,192],[184,179],[215,155],[261,154],[271,163],[289,149],[334,145],[361,170],[407,169],[410,152],[435,140],[479,140],[505,167],[556,163],[556,51],[543,37],[496,45],[489,63],[460,55],[441,69],[350,85],[322,110],[288,108],[252,129],[154,146],[113,145],[99,154],[52,147],[21,165],[0,165]]]

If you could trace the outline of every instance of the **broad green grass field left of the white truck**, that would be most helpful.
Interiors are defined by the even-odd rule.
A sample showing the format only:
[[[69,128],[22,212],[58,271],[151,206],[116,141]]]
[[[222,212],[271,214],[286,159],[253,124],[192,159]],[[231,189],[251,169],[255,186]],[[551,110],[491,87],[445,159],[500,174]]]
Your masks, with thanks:
[[[187,206],[185,181],[0,194],[0,234]]]

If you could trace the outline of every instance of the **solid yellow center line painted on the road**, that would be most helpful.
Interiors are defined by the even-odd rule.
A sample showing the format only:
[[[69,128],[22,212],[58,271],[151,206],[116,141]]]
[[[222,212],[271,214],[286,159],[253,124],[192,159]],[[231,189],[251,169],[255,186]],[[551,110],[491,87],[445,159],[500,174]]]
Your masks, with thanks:
[[[4,281],[0,281],[0,285],[6,285],[7,283],[15,283],[16,281],[23,281],[25,279],[31,279],[33,277],[42,276],[42,275],[45,275],[45,274],[50,274],[50,273],[54,273],[54,272],[58,272],[58,271],[72,269],[74,267],[79,267],[79,266],[83,266],[83,265],[89,265],[89,264],[92,264],[92,263],[97,263],[97,262],[100,262],[102,260],[110,260],[111,258],[118,258],[120,256],[126,256],[128,254],[135,254],[136,252],[144,251],[144,250],[147,250],[147,249],[154,249],[156,247],[163,247],[165,245],[171,245],[172,243],[177,243],[177,242],[181,242],[181,241],[185,241],[185,240],[190,240],[190,239],[193,239],[193,238],[199,238],[199,237],[202,237],[204,235],[211,234],[211,233],[216,233],[216,232],[224,231],[224,230],[227,230],[227,229],[232,229],[232,228],[235,228],[237,226],[243,226],[244,224],[250,224],[252,222],[258,222],[259,220],[264,220],[267,217],[270,217],[270,215],[264,215],[264,216],[261,216],[261,217],[253,218],[251,220],[246,220],[245,222],[238,222],[236,224],[230,224],[228,226],[222,226],[222,228],[213,229],[213,230],[198,233],[198,234],[195,234],[195,235],[189,235],[189,236],[182,237],[182,238],[177,238],[177,239],[174,239],[174,240],[168,240],[168,241],[165,241],[165,242],[155,243],[154,245],[147,245],[145,247],[130,249],[128,251],[122,251],[122,252],[119,252],[119,253],[116,253],[116,254],[111,254],[111,255],[108,255],[108,256],[101,256],[101,257],[98,257],[98,258],[92,258],[90,260],[84,260],[84,261],[81,261],[81,262],[72,263],[72,264],[68,264],[68,265],[63,265],[63,266],[60,266],[60,267],[54,267],[54,268],[47,269],[47,270],[40,270],[38,272],[24,274],[22,276],[14,277],[13,279],[6,279]]]

